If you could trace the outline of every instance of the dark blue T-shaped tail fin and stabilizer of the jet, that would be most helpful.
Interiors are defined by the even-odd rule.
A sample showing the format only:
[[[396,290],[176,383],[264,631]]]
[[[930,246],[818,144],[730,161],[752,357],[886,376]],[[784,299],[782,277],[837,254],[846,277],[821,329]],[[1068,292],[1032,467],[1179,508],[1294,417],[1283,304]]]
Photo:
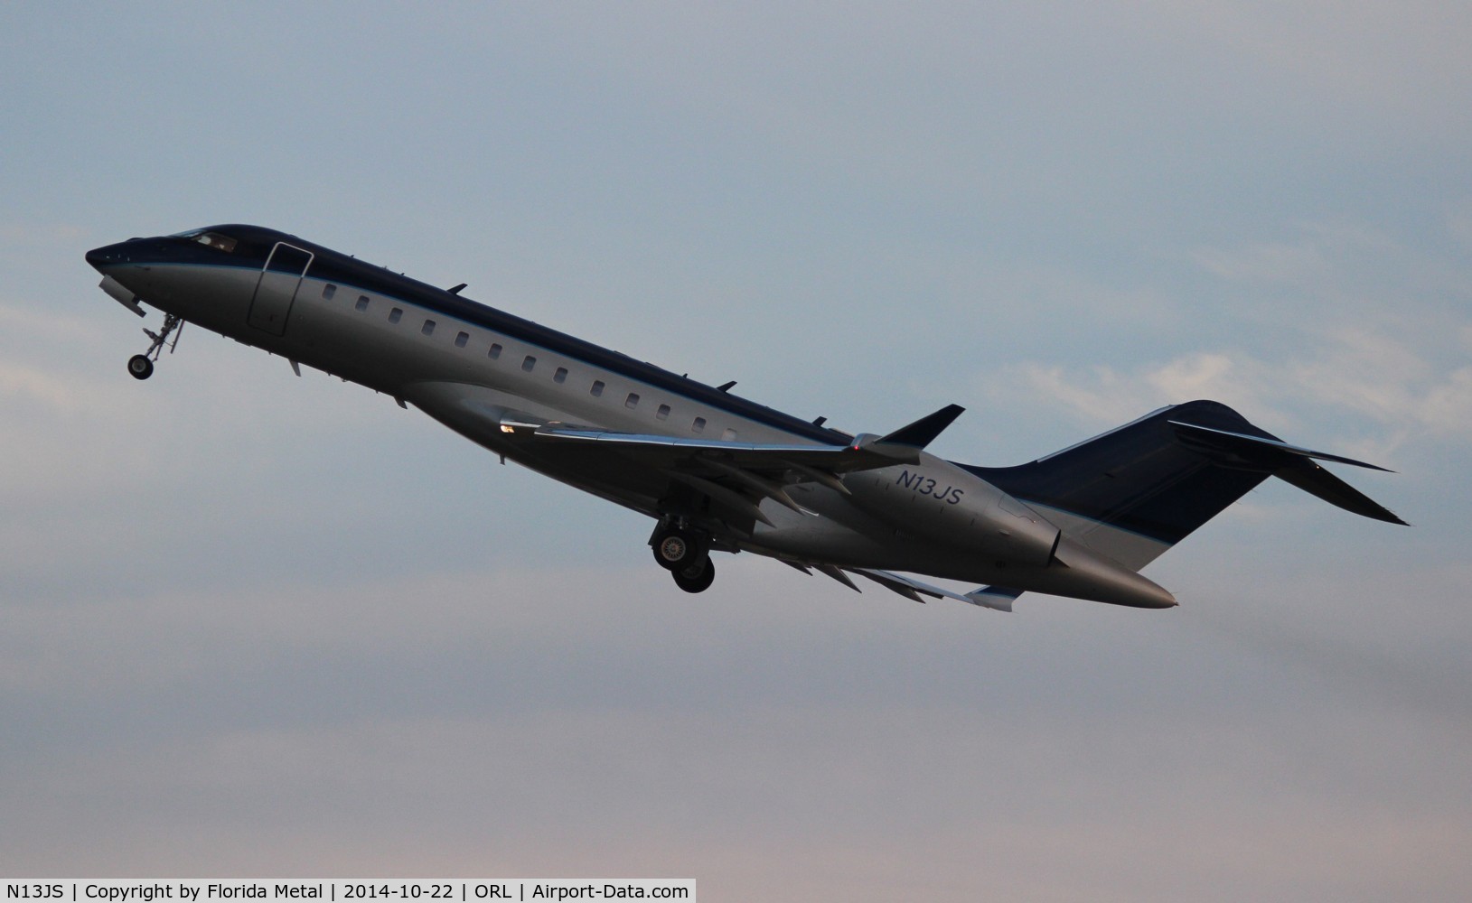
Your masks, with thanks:
[[[1026,502],[1064,535],[1139,571],[1269,477],[1390,524],[1406,524],[1317,460],[1384,471],[1291,446],[1219,401],[1163,407],[1014,468],[960,465]],[[1014,590],[985,591],[1016,597]]]

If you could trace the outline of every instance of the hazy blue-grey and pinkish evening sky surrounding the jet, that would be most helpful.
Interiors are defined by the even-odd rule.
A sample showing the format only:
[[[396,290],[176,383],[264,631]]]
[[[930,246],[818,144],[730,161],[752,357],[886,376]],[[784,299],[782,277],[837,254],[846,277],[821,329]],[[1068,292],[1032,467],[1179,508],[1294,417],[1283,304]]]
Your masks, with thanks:
[[[1472,893],[1472,13],[0,6],[0,875],[701,899]],[[1030,460],[1209,397],[1270,481],[1002,615],[651,525],[185,328],[87,249],[253,222],[851,432]],[[149,324],[156,328],[156,321]],[[1353,471],[1353,472],[1351,472]]]

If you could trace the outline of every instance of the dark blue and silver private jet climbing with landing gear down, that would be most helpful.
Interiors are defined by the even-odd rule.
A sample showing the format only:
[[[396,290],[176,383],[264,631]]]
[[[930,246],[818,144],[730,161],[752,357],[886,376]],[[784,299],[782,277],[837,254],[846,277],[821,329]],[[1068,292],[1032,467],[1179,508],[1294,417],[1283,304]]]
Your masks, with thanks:
[[[712,553],[748,552],[851,588],[1011,610],[1023,591],[1136,607],[1175,597],[1139,574],[1278,477],[1404,524],[1317,460],[1216,401],[1163,407],[1032,463],[929,452],[951,404],[848,434],[574,338],[294,235],[219,225],[87,251],[124,307],[163,313],[128,360],[146,379],[185,322],[414,406],[474,443],[654,519],[676,585],[711,585]],[[919,577],[917,577],[919,575]],[[967,593],[920,577],[977,584]]]

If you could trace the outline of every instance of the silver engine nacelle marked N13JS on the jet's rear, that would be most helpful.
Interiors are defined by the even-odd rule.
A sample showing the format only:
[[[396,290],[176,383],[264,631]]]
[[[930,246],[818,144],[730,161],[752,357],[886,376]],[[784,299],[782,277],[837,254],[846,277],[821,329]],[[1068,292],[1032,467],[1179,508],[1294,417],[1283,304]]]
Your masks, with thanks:
[[[1058,528],[980,477],[921,453],[914,465],[843,475],[851,502],[904,532],[997,560],[1047,566]]]

